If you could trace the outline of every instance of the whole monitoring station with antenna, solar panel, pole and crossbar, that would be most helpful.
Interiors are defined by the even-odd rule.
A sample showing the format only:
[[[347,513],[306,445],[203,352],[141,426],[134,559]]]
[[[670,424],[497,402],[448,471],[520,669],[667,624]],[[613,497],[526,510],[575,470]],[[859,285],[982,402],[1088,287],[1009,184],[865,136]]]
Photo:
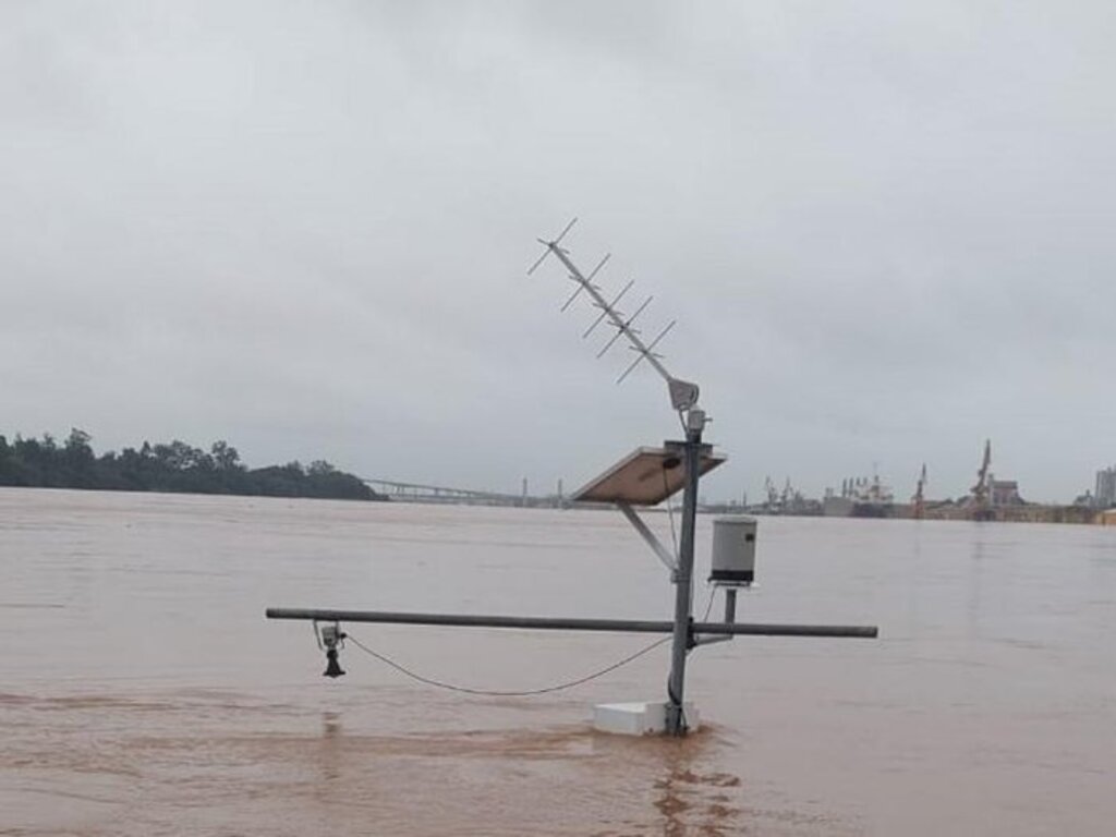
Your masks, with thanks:
[[[862,625],[793,625],[749,624],[735,619],[737,593],[750,587],[756,574],[757,522],[753,518],[732,516],[713,521],[713,555],[710,583],[724,596],[724,617],[720,622],[694,622],[693,569],[694,530],[698,517],[698,485],[701,477],[725,461],[723,454],[703,442],[706,416],[698,405],[696,384],[673,377],[662,363],[655,347],[673,328],[671,321],[650,343],[634,323],[650,305],[648,297],[631,315],[617,306],[634,285],[627,282],[613,299],[606,299],[596,277],[608,262],[608,256],[585,276],[570,259],[561,241],[574,227],[574,221],[554,240],[539,239],[543,252],[528,270],[533,273],[550,256],[565,267],[575,283],[573,295],[562,305],[567,310],[574,300],[585,294],[600,314],[584,336],[588,337],[607,321],[616,333],[598,353],[607,353],[620,338],[627,341],[636,357],[620,375],[624,381],[644,360],[666,383],[671,407],[679,414],[683,439],[667,441],[662,446],[637,448],[597,479],[577,491],[575,502],[607,503],[615,506],[632,523],[639,537],[670,570],[675,587],[674,618],[672,620],[550,618],[471,614],[385,613],[369,610],[324,610],[306,608],[268,608],[272,619],[306,619],[316,624],[316,636],[326,653],[326,676],[336,677],[345,672],[338,662],[338,650],[345,634],[341,623],[393,623],[411,625],[442,625],[453,627],[518,628],[528,631],[596,631],[670,634],[672,638],[671,671],[665,700],[651,702],[608,703],[594,708],[594,724],[598,730],[628,734],[666,733],[685,735],[696,729],[698,712],[685,701],[686,658],[700,645],[724,642],[734,636],[796,636],[796,637],[859,637],[877,636],[875,626]],[[665,546],[647,528],[636,508],[650,508],[666,502],[682,491],[682,526],[677,547]],[[672,545],[673,547],[673,545]],[[546,691],[546,690],[540,690]]]

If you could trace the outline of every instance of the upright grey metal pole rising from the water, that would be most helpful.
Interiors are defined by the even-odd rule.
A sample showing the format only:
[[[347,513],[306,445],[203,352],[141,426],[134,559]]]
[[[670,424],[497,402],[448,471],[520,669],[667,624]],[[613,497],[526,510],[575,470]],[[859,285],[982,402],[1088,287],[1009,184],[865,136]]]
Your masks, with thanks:
[[[701,477],[701,434],[705,415],[692,410],[686,420],[686,488],[682,500],[682,538],[679,568],[674,574],[674,643],[671,651],[671,676],[667,681],[666,733],[685,735],[682,711],[685,698],[686,654],[693,643],[691,605],[694,571],[694,529],[698,521],[698,480]]]

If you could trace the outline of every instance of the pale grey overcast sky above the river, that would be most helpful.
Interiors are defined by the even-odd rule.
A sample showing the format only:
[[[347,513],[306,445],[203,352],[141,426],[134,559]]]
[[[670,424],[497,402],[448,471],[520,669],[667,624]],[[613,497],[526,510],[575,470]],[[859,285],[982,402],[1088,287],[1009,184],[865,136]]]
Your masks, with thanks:
[[[569,490],[677,434],[1068,501],[1116,461],[1103,2],[4,2],[0,433]],[[606,290],[607,292],[607,290]]]

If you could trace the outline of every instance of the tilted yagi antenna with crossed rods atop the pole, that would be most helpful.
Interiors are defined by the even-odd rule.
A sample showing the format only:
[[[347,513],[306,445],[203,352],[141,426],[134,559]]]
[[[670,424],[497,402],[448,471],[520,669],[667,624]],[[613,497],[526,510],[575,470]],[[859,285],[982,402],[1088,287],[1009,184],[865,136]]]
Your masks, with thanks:
[[[569,273],[570,280],[577,283],[577,288],[562,305],[561,310],[562,311],[567,310],[574,304],[574,300],[581,295],[583,291],[589,295],[589,299],[593,300],[593,306],[595,308],[600,309],[600,316],[598,316],[597,319],[594,320],[593,325],[589,326],[586,329],[585,334],[581,336],[588,337],[590,334],[593,334],[593,331],[597,328],[597,326],[599,326],[605,320],[608,320],[609,325],[612,325],[613,328],[616,329],[616,334],[613,335],[613,337],[608,340],[608,343],[605,344],[605,347],[597,353],[597,357],[603,357],[605,353],[607,353],[608,349],[610,349],[613,345],[620,337],[627,339],[628,347],[637,355],[635,360],[632,362],[632,365],[624,371],[624,374],[619,376],[616,383],[618,384],[622,381],[624,381],[624,378],[626,378],[629,374],[632,374],[632,372],[635,369],[636,366],[638,366],[642,362],[646,360],[652,365],[652,367],[654,367],[655,372],[657,372],[662,376],[663,381],[666,382],[666,386],[671,395],[671,406],[673,406],[680,413],[692,408],[694,405],[698,404],[698,394],[699,394],[698,384],[691,383],[689,381],[682,381],[681,378],[676,378],[673,375],[671,375],[671,373],[667,372],[666,367],[663,365],[663,355],[658,354],[657,352],[654,352],[654,348],[655,346],[658,345],[658,341],[662,340],[672,328],[674,328],[674,320],[671,320],[671,323],[667,324],[667,326],[662,331],[660,331],[658,336],[655,337],[655,339],[653,339],[651,343],[644,343],[643,338],[639,336],[641,330],[638,328],[635,328],[633,326],[633,323],[635,323],[635,318],[638,317],[641,314],[643,314],[644,309],[646,309],[647,306],[651,305],[651,300],[654,297],[647,297],[643,301],[643,305],[636,308],[634,314],[632,314],[631,316],[625,316],[624,312],[616,306],[620,301],[620,299],[623,299],[624,295],[628,292],[632,286],[635,285],[635,280],[633,279],[629,280],[628,283],[620,289],[620,291],[612,299],[612,301],[606,299],[605,296],[602,294],[600,286],[597,285],[594,281],[594,279],[596,279],[597,275],[602,271],[605,264],[608,263],[608,259],[610,258],[612,254],[610,253],[606,254],[605,258],[603,258],[597,263],[597,267],[595,267],[589,272],[588,276],[585,276],[574,263],[574,260],[570,259],[569,251],[564,247],[560,247],[562,239],[566,238],[566,233],[568,233],[573,229],[575,223],[577,223],[576,218],[568,224],[566,224],[566,229],[564,229],[560,233],[558,233],[557,238],[550,241],[547,241],[546,239],[538,239],[538,242],[542,244],[546,248],[546,250],[543,250],[542,254],[538,259],[536,259],[533,264],[531,264],[530,269],[527,271],[527,275],[530,276],[531,273],[533,273],[538,269],[538,267],[543,261],[546,261],[546,258],[552,253],[558,259],[558,261],[560,261],[562,266],[566,268],[567,272]]]

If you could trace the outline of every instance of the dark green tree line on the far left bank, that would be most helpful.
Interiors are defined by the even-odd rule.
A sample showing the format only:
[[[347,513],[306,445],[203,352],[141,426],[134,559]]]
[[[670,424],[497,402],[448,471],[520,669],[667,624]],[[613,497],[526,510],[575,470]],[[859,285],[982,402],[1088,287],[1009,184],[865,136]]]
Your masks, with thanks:
[[[193,494],[310,497],[335,500],[386,500],[359,478],[338,471],[325,460],[309,465],[248,468],[237,449],[214,442],[209,451],[174,440],[144,442],[99,456],[92,437],[76,427],[60,444],[49,433],[42,439],[0,435],[0,485],[69,488],[107,491],[167,491]]]

